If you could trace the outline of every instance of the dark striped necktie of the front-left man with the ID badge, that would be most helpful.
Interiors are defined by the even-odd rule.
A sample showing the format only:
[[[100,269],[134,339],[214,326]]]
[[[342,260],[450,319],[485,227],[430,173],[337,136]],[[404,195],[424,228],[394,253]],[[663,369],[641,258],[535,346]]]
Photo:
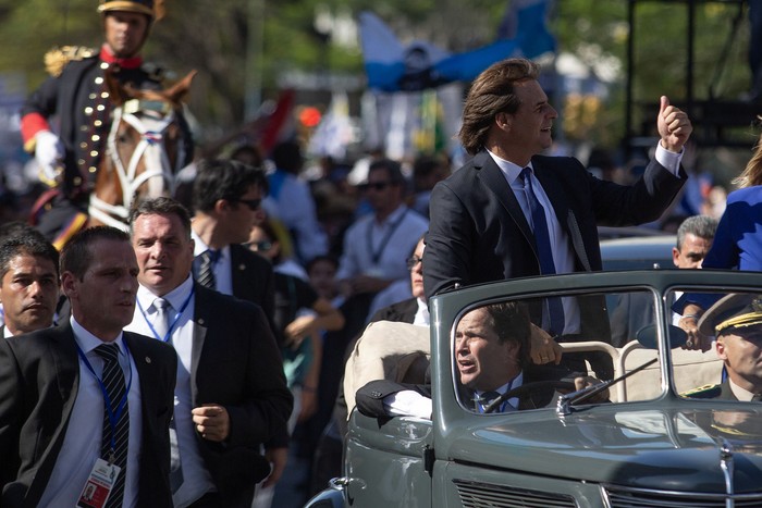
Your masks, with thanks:
[[[95,348],[96,354],[103,359],[103,386],[108,395],[108,401],[103,407],[103,438],[101,442],[101,457],[121,468],[116,483],[111,490],[107,507],[121,507],[124,499],[124,479],[127,475],[127,449],[130,439],[130,411],[127,400],[124,400],[124,409],[114,428],[111,426],[109,410],[106,404],[111,405],[111,413],[116,412],[122,397],[125,396],[124,372],[119,364],[119,346],[115,344],[101,344]],[[112,439],[113,434],[113,439]],[[113,448],[112,448],[113,443]]]

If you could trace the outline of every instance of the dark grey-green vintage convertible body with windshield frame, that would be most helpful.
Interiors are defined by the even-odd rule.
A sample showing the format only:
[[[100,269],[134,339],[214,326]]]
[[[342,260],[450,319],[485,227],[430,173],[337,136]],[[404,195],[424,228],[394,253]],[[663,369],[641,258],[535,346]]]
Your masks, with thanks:
[[[646,288],[661,302],[653,319],[664,374],[652,399],[589,405],[568,414],[553,407],[478,414],[458,401],[453,336],[467,310],[508,297],[623,287]],[[747,504],[738,506],[762,506],[762,407],[686,398],[675,388],[665,340],[671,310],[663,296],[691,287],[762,294],[762,274],[578,273],[437,296],[430,302],[432,421],[374,419],[355,411],[344,457],[345,506],[690,507],[697,499],[712,507],[741,499]],[[724,426],[721,416],[730,423]],[[747,425],[737,428],[734,421]],[[628,504],[631,499],[642,504]]]

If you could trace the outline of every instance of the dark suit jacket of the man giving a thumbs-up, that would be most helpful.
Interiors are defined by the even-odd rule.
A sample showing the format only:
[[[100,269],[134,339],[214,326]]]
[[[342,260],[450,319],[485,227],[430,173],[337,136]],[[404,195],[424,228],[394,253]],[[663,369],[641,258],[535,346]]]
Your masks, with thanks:
[[[532,158],[534,174],[568,235],[576,271],[601,270],[598,225],[657,219],[685,183],[652,161],[632,186],[595,178],[573,158]],[[505,176],[487,151],[440,182],[431,195],[423,252],[429,298],[452,288],[540,274],[533,234]]]

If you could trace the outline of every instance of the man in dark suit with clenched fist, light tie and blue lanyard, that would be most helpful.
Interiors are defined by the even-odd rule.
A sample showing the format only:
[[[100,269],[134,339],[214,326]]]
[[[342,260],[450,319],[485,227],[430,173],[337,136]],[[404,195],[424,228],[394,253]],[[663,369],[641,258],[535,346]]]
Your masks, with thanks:
[[[190,276],[188,212],[169,198],[130,216],[140,287],[131,330],[177,352],[171,483],[176,507],[249,507],[270,472],[260,446],[285,430],[293,399],[262,309]]]

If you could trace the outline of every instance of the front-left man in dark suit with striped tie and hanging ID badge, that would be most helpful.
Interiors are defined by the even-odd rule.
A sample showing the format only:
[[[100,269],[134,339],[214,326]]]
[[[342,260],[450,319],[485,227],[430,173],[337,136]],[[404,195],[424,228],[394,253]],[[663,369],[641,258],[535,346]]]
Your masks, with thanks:
[[[115,474],[103,506],[172,506],[176,355],[122,331],[137,274],[126,234],[86,230],[61,252],[70,322],[0,340],[2,506],[75,506],[99,468]]]

